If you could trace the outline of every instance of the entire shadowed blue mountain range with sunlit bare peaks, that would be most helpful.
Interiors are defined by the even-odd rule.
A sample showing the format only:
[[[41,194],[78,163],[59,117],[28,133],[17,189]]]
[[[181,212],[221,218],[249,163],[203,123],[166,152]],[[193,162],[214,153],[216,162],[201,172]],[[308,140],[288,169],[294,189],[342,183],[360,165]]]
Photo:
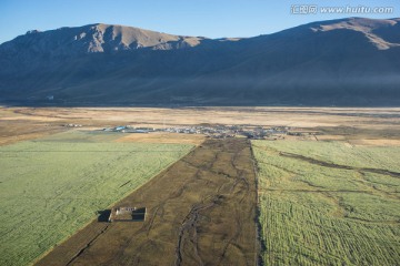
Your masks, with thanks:
[[[400,104],[400,19],[319,21],[253,38],[133,27],[32,30],[0,44],[0,103]]]

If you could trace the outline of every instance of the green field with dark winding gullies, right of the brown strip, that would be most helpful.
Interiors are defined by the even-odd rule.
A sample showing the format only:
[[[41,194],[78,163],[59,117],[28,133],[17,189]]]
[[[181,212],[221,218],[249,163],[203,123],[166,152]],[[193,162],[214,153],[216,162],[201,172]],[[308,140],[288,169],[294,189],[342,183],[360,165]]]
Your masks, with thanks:
[[[252,145],[266,265],[399,265],[399,147]]]

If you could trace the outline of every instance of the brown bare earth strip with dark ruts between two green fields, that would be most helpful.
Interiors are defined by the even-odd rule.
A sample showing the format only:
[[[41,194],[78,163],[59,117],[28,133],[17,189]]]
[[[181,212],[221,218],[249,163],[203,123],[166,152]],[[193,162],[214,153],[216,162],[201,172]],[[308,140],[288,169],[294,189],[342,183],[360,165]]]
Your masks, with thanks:
[[[93,222],[37,265],[254,265],[256,176],[246,140],[209,140],[122,200],[146,222]]]

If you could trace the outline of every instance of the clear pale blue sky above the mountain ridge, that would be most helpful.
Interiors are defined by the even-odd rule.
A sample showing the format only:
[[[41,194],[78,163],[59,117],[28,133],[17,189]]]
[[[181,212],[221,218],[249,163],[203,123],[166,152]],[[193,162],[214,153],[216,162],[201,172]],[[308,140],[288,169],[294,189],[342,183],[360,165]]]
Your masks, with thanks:
[[[294,14],[296,4],[317,4]],[[292,9],[292,7],[296,9]],[[321,7],[391,7],[383,14],[321,13]],[[399,0],[0,0],[0,43],[28,30],[90,23],[133,25],[171,34],[253,37],[311,21],[347,17],[399,18]]]

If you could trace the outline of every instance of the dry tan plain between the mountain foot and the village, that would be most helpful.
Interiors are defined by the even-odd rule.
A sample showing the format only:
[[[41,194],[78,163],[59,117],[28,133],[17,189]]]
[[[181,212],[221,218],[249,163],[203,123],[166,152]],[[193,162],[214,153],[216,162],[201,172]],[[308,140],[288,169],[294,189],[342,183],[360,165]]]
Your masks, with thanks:
[[[107,126],[182,126],[199,124],[291,126],[317,131],[318,140],[341,140],[351,144],[400,145],[400,109],[338,108],[1,108],[0,144],[30,140],[71,130],[66,124],[81,124],[80,130]],[[173,142],[182,136],[127,136],[124,141]],[[166,140],[171,139],[171,140]],[[183,139],[192,139],[183,136]],[[198,143],[198,137],[194,143]],[[177,141],[178,141],[177,140]],[[188,141],[190,142],[190,141]]]

